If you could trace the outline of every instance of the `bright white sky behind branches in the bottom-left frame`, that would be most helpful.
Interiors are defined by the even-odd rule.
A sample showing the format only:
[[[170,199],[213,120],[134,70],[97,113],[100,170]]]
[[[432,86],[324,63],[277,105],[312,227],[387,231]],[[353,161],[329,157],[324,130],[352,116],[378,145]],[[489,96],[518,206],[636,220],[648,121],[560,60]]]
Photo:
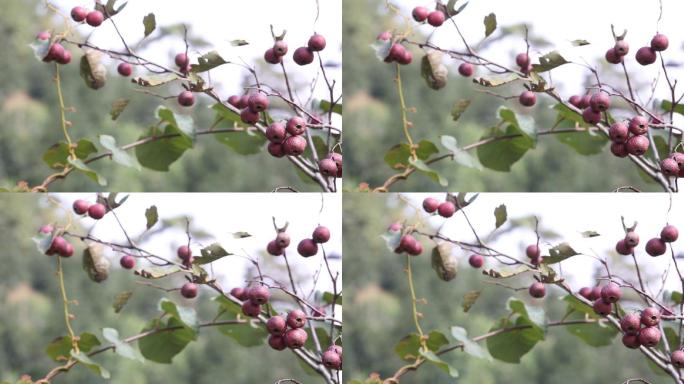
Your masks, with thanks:
[[[53,194],[69,208],[76,199],[95,201],[95,194]],[[119,195],[119,198],[124,194]],[[321,196],[323,196],[324,209],[321,214]],[[288,252],[288,260],[293,268],[300,269],[307,275],[313,275],[323,262],[322,256],[305,259],[296,253],[296,247],[303,238],[310,238],[314,228],[320,223],[330,229],[331,238],[325,244],[328,255],[342,254],[342,222],[341,222],[341,196],[338,194],[317,193],[144,193],[131,194],[126,203],[117,208],[119,219],[129,234],[136,236],[145,230],[145,209],[156,205],[160,219],[174,218],[188,215],[192,218],[191,227],[210,233],[215,240],[205,244],[192,244],[194,255],[199,255],[202,246],[212,242],[219,242],[228,252],[245,254],[253,257],[265,250],[266,244],[275,238],[272,217],[275,216],[278,225],[285,221],[290,223],[288,233],[292,237],[292,243]],[[81,219],[85,228],[88,229],[94,223],[92,219]],[[159,224],[157,224],[159,225]],[[252,237],[235,240],[232,233],[244,231]],[[126,243],[121,229],[113,215],[108,214],[97,222],[93,235],[99,239]],[[178,246],[187,243],[184,228],[165,231],[150,237],[141,245],[147,251],[158,255],[175,257]],[[243,251],[244,250],[244,251]],[[112,265],[120,268],[118,257],[109,252]],[[270,256],[269,256],[270,257]],[[281,261],[284,263],[284,261]],[[213,271],[221,277],[224,287],[244,285],[243,272],[249,266],[249,262],[242,257],[229,256],[213,263]],[[331,262],[334,271],[341,272],[341,259]],[[325,270],[324,270],[325,271]],[[310,287],[307,282],[301,282],[303,287]],[[318,288],[321,291],[330,291],[332,284],[327,273],[321,273]],[[308,291],[308,289],[307,289]]]

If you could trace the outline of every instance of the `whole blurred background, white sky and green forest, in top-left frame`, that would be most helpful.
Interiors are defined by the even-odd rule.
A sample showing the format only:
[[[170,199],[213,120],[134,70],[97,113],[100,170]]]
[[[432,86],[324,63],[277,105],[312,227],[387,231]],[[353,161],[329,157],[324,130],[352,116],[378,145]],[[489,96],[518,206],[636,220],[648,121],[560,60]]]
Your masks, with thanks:
[[[68,14],[76,5],[92,7],[92,1],[51,1],[61,12]],[[123,1],[118,3],[122,4]],[[328,47],[323,52],[327,73],[338,82],[341,92],[341,4],[340,0],[320,2],[297,0],[288,3],[275,0],[258,0],[244,4],[198,0],[191,3],[173,1],[130,1],[124,11],[117,15],[117,25],[122,35],[132,43],[143,36],[143,17],[155,13],[157,31],[139,47],[138,53],[161,63],[173,63],[173,57],[185,50],[182,25],[189,28],[192,43],[190,56],[195,57],[218,50],[224,59],[239,65],[225,65],[211,73],[211,82],[221,95],[228,97],[242,93],[243,86],[253,80],[240,65],[256,66],[261,79],[270,84],[281,85],[281,75],[275,66],[263,62],[263,52],[272,44],[270,25],[275,32],[287,30],[286,40],[294,48],[305,45],[314,31],[325,35]],[[318,15],[318,19],[316,19]],[[31,185],[41,182],[50,169],[43,163],[43,153],[63,136],[59,126],[58,103],[52,81],[53,68],[37,61],[29,44],[42,30],[61,30],[63,20],[46,11],[44,0],[7,1],[0,15],[3,39],[0,48],[0,187],[12,187],[19,181]],[[97,29],[80,26],[76,33],[82,39],[115,50],[123,49],[110,23]],[[247,40],[250,45],[232,47],[235,39]],[[75,108],[68,115],[73,122],[73,137],[87,137],[97,142],[100,134],[117,138],[120,145],[133,142],[149,126],[156,123],[155,109],[164,104],[177,110],[175,100],[164,101],[134,91],[127,79],[116,73],[117,63],[106,60],[109,71],[107,86],[93,91],[85,86],[79,76],[77,49],[69,47],[74,61],[62,69],[63,90],[66,105]],[[313,65],[299,67],[287,62],[293,87],[305,102],[312,79],[320,69]],[[140,74],[139,72],[136,72]],[[134,75],[136,74],[134,73]],[[327,96],[327,88],[321,81],[314,90],[315,98]],[[180,92],[179,85],[156,89],[163,95]],[[130,98],[131,104],[116,122],[109,111],[112,103]],[[199,97],[192,115],[198,128],[206,129],[214,119],[213,111],[207,110],[211,101]],[[282,106],[275,103],[274,117],[285,115]],[[278,110],[281,110],[279,112]],[[341,126],[341,119],[336,122]],[[168,173],[150,170],[138,172],[105,160],[93,164],[109,185],[100,187],[83,175],[71,175],[68,180],[52,185],[52,191],[271,191],[278,186],[295,186],[302,191],[317,191],[316,185],[305,184],[287,160],[275,159],[266,153],[243,156],[233,152],[213,137],[203,137],[196,147],[186,152],[171,166]]]

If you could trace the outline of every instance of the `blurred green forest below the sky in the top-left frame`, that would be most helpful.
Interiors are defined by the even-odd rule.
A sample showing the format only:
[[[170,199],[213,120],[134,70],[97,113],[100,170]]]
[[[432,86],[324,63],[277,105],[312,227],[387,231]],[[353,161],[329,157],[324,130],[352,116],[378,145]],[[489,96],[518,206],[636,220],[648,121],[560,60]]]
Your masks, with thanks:
[[[3,68],[0,71],[0,187],[3,188],[11,188],[20,181],[28,181],[31,186],[40,184],[52,173],[42,160],[43,153],[64,139],[53,83],[54,68],[36,60],[29,47],[39,31],[58,27],[58,20],[48,17],[42,4],[39,0],[5,1],[0,12],[3,36],[0,39],[3,52],[0,57]],[[119,17],[126,20],[125,11]],[[178,36],[169,38],[178,39],[182,44]],[[97,142],[98,135],[111,135],[119,145],[124,145],[136,141],[156,123],[159,99],[135,92],[128,80],[116,74],[113,61],[108,68],[106,87],[98,91],[87,88],[79,76],[81,55],[72,46],[68,49],[74,54],[74,61],[62,68],[62,77],[66,105],[76,110],[68,114],[73,122],[72,137]],[[274,76],[265,72],[265,65],[263,70],[262,77]],[[164,89],[155,91],[166,93]],[[171,93],[177,91],[171,90]],[[129,98],[131,103],[119,120],[113,122],[109,112],[112,103],[121,98]],[[193,109],[193,117],[199,129],[206,129],[212,124],[214,114],[206,109],[208,99],[201,97],[200,101]],[[175,100],[164,103],[175,108]],[[288,161],[272,158],[265,149],[257,155],[240,155],[213,135],[199,138],[194,149],[171,165],[170,172],[148,169],[138,172],[111,160],[93,163],[92,167],[108,180],[107,187],[100,187],[79,173],[55,182],[50,190],[270,191],[285,185],[302,191],[318,190],[316,185],[302,182]]]

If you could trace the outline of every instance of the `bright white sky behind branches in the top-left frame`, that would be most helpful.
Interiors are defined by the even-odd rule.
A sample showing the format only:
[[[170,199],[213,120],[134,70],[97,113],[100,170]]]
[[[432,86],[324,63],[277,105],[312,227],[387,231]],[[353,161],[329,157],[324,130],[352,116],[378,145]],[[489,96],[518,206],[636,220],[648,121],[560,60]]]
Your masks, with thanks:
[[[60,9],[69,13],[74,6],[90,6],[92,1],[84,0],[52,0]],[[119,0],[117,4],[123,4]],[[250,65],[254,59],[263,61],[263,54],[273,45],[270,25],[273,24],[276,33],[287,30],[287,41],[290,49],[286,66],[291,76],[311,81],[317,72],[311,64],[299,67],[292,61],[292,52],[306,45],[313,32],[320,33],[327,40],[327,47],[322,52],[324,61],[341,62],[342,45],[342,0],[321,0],[320,16],[316,19],[316,0],[252,0],[252,1],[212,1],[212,0],[128,0],[128,5],[121,14],[116,16],[116,23],[126,40],[137,42],[143,37],[143,17],[154,13],[157,26],[185,23],[191,33],[212,44],[221,56],[233,62],[240,62],[242,58]],[[93,32],[90,41],[98,46],[123,49],[114,27],[109,22],[93,29],[88,25],[79,27],[84,34]],[[158,33],[158,32],[155,32]],[[153,35],[154,36],[154,35]],[[247,40],[250,45],[232,47],[230,41],[235,39]],[[206,48],[205,48],[206,49]],[[145,58],[161,63],[173,64],[173,56],[184,51],[185,45],[181,39],[163,40],[151,44],[147,50],[139,52]],[[206,52],[204,52],[206,53]],[[191,59],[198,56],[191,52]],[[114,66],[112,67],[114,68]],[[112,70],[116,75],[115,69]],[[340,68],[327,69],[326,72],[337,80],[336,89],[341,92],[342,71]],[[211,72],[211,78],[226,97],[240,91],[239,85],[244,70],[235,65],[226,65]],[[134,74],[135,75],[135,74]],[[278,84],[279,85],[279,84]],[[283,89],[284,91],[284,89]],[[303,99],[307,95],[300,95]],[[321,78],[316,89],[316,98],[327,96],[327,88]]]

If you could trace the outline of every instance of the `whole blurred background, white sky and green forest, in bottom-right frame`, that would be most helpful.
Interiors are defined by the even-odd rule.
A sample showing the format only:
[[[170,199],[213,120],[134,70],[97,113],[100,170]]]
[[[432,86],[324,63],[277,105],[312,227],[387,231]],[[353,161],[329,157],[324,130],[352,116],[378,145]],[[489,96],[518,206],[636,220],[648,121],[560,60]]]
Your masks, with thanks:
[[[416,212],[425,197],[444,199],[435,194],[390,194],[358,195],[345,194],[344,233],[345,239],[345,377],[361,380],[373,372],[385,378],[405,364],[395,353],[396,343],[405,335],[414,332],[411,317],[410,292],[405,274],[405,256],[396,255],[387,249],[381,238],[392,222],[406,220],[407,223],[421,222],[426,232],[435,231],[443,225],[444,235],[466,242],[475,242],[470,228],[459,213],[445,220],[428,217]],[[534,200],[532,202],[532,200]],[[665,282],[663,295],[681,290],[674,273],[670,257],[652,258],[643,250],[643,244],[660,233],[666,222],[684,226],[684,220],[677,212],[684,207],[684,199],[674,197],[668,213],[670,200],[664,194],[480,194],[475,202],[466,208],[468,217],[478,234],[488,238],[495,249],[512,255],[525,257],[525,247],[536,241],[534,217],[540,219],[542,254],[548,255],[548,248],[567,241],[578,252],[607,258],[611,271],[628,279],[634,278],[631,258],[618,256],[615,243],[624,237],[621,216],[627,225],[638,222],[637,233],[641,244],[637,247],[648,290],[657,293],[661,278],[666,270],[670,277]],[[495,228],[494,209],[505,204],[508,222],[493,235]],[[583,231],[596,231],[598,237],[584,238]],[[420,304],[423,314],[423,330],[438,330],[449,335],[452,326],[464,327],[470,337],[484,334],[495,322],[508,314],[506,301],[509,297],[523,300],[527,305],[541,307],[547,319],[561,319],[566,305],[560,300],[563,292],[556,287],[547,287],[547,296],[542,300],[530,298],[526,290],[513,292],[503,287],[483,283],[486,277],[481,271],[468,264],[464,251],[454,249],[458,260],[458,272],[454,280],[439,280],[430,265],[430,251],[433,244],[421,238],[425,252],[413,258],[412,269],[416,295],[427,300]],[[675,251],[684,251],[682,240],[674,243]],[[566,282],[574,289],[593,284],[599,276],[600,264],[588,256],[576,256],[555,265]],[[497,263],[486,260],[484,268],[503,269]],[[506,280],[513,287],[530,284],[529,276]],[[631,280],[634,281],[634,280]],[[461,305],[463,295],[482,290],[477,302],[468,313]],[[623,305],[633,308],[625,295]],[[451,340],[453,342],[453,340]],[[483,347],[484,343],[480,343]],[[522,357],[520,364],[508,364],[498,360],[487,362],[462,352],[450,352],[441,356],[455,367],[460,374],[457,382],[462,384],[493,383],[622,383],[629,378],[644,378],[651,383],[668,383],[667,377],[656,376],[639,352],[626,349],[620,337],[611,345],[594,348],[585,344],[562,327],[549,328],[546,339],[540,341],[530,353]],[[453,383],[450,378],[434,366],[425,365],[417,372],[405,375],[402,384],[410,383]]]

